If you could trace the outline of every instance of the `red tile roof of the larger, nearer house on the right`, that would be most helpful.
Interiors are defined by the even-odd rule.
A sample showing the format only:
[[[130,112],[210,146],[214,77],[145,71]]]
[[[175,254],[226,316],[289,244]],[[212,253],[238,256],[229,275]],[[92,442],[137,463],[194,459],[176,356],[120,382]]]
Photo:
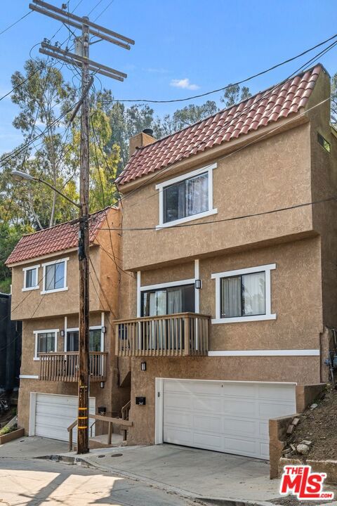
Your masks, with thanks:
[[[176,134],[138,148],[117,183],[124,185],[298,112],[308,103],[321,71],[322,65],[316,65]]]

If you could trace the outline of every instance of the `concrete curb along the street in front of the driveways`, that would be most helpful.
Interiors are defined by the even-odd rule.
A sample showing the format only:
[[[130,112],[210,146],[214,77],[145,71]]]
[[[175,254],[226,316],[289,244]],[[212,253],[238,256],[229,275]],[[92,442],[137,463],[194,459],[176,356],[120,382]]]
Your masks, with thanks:
[[[113,472],[117,476],[122,476],[124,478],[129,478],[134,481],[141,481],[144,484],[154,486],[166,492],[175,493],[176,495],[180,495],[190,500],[199,501],[201,504],[212,504],[212,505],[221,505],[221,506],[275,506],[272,502],[268,501],[254,501],[254,500],[238,500],[234,498],[218,498],[218,497],[205,497],[202,495],[194,494],[190,491],[185,490],[184,488],[173,487],[171,485],[164,484],[162,481],[156,481],[148,478],[144,478],[144,476],[140,476],[139,474],[134,474],[131,472],[124,472],[120,469],[114,469],[111,466],[105,466],[102,462],[102,465],[98,465],[96,462],[91,462],[86,457],[77,457],[77,456],[67,456],[67,455],[46,455],[45,457],[41,457],[46,460],[53,460],[54,462],[65,462],[67,464],[72,465],[81,465],[85,467],[92,467],[93,469],[99,469],[103,472]],[[205,502],[206,501],[206,502]]]

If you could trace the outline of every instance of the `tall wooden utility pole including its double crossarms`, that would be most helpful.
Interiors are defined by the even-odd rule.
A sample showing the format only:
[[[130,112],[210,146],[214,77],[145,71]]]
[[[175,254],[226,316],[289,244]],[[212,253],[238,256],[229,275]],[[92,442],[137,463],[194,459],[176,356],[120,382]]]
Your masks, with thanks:
[[[29,4],[32,11],[48,15],[50,18],[61,21],[81,30],[81,37],[76,37],[77,51],[70,53],[57,44],[51,45],[49,41],[41,44],[40,53],[57,58],[70,65],[81,68],[81,99],[74,108],[72,119],[81,106],[81,146],[80,146],[80,209],[79,209],[79,413],[77,424],[77,453],[88,453],[88,427],[89,427],[89,97],[93,77],[90,71],[103,74],[106,77],[124,81],[127,77],[111,67],[89,59],[90,35],[103,39],[117,46],[130,49],[134,44],[132,39],[112,32],[105,27],[91,22],[88,17],[79,17],[64,9],[47,4],[45,1],[33,0]],[[66,339],[66,336],[65,336]]]

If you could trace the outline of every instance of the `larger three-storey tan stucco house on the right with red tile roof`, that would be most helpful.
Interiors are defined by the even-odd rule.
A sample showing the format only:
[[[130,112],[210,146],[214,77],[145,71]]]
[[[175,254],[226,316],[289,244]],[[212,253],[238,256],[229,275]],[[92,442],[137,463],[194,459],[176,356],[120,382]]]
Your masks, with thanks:
[[[129,443],[268,459],[268,421],[328,380],[337,138],[322,65],[156,141],[118,179]]]

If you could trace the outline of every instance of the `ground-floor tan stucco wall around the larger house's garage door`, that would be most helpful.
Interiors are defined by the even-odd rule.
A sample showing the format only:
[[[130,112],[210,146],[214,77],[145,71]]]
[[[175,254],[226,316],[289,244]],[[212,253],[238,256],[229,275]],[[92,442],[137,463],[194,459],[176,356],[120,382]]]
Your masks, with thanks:
[[[140,370],[146,361],[147,370]],[[155,378],[204,380],[317,382],[317,357],[203,357],[203,358],[132,358],[131,413],[133,427],[128,444],[154,443]],[[146,405],[137,406],[136,396],[145,396]]]

